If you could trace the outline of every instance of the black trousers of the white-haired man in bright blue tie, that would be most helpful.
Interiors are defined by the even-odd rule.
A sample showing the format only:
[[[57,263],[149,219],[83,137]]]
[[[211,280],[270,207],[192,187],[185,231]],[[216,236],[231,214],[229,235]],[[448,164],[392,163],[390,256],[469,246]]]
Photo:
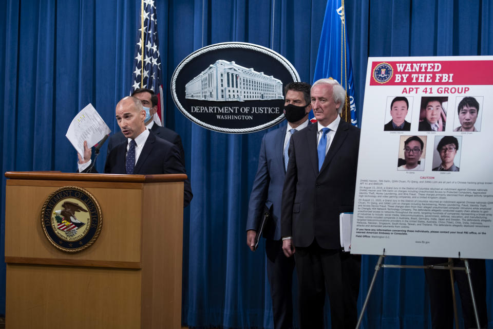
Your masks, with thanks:
[[[354,329],[361,277],[361,255],[321,248],[316,241],[296,247],[299,318],[302,329],[324,328],[325,294],[329,295],[333,329]]]

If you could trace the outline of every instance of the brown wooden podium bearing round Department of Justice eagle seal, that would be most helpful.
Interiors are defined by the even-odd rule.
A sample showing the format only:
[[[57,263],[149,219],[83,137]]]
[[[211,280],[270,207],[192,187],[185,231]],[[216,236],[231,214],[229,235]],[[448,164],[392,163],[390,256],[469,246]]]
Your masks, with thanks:
[[[176,175],[7,172],[6,327],[181,328],[183,180]],[[101,233],[56,249],[41,225],[60,187],[91,193]]]

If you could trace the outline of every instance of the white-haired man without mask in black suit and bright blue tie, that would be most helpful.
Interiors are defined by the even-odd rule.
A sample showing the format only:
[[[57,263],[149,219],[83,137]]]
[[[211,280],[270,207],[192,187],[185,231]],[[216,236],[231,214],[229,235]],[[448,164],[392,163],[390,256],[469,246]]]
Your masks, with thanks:
[[[359,129],[340,119],[346,92],[333,79],[311,88],[317,124],[291,136],[282,190],[281,236],[298,275],[301,328],[324,327],[330,299],[333,328],[354,328],[361,255],[341,248],[339,215],[352,212]]]

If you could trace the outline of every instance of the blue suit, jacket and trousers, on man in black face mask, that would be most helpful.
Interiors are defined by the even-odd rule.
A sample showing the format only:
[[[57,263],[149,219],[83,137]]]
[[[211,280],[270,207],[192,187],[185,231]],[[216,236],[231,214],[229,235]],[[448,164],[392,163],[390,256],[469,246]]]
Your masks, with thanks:
[[[284,255],[280,240],[282,185],[286,176],[283,155],[285,137],[286,125],[282,125],[262,138],[247,218],[247,230],[257,230],[264,209],[271,209],[272,221],[264,228],[263,237],[266,238],[267,276],[271,285],[276,329],[293,326],[291,289],[294,259]]]

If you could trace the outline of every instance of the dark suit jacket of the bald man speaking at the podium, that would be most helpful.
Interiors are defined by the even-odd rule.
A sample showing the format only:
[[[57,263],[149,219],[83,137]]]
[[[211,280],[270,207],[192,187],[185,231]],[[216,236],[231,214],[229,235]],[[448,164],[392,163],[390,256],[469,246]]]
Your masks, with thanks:
[[[116,145],[106,155],[104,165],[105,174],[126,174],[125,156],[127,153],[127,139]],[[91,172],[96,172],[92,169]],[[185,168],[180,157],[180,152],[176,145],[156,138],[152,131],[145,141],[139,159],[135,164],[135,175],[154,175],[154,174],[184,174]],[[192,188],[190,182],[186,179],[183,182],[184,196],[183,205],[188,206],[192,200]]]

